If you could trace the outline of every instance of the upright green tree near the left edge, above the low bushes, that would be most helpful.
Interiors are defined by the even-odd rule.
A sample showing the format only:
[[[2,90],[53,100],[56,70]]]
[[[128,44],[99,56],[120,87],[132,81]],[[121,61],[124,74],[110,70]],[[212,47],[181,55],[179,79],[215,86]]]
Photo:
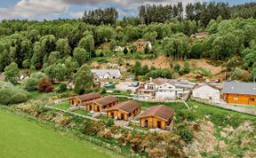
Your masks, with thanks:
[[[10,83],[16,83],[20,75],[20,69],[15,62],[12,62],[9,66],[4,68],[5,80]]]

